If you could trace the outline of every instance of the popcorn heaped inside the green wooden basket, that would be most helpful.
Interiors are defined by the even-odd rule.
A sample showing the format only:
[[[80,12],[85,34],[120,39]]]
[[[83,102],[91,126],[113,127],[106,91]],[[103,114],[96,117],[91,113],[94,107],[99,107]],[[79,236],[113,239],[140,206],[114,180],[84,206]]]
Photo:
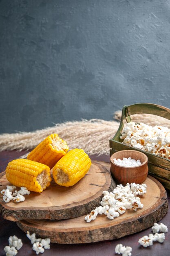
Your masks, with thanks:
[[[120,139],[134,148],[170,159],[170,129],[131,121],[122,130]]]

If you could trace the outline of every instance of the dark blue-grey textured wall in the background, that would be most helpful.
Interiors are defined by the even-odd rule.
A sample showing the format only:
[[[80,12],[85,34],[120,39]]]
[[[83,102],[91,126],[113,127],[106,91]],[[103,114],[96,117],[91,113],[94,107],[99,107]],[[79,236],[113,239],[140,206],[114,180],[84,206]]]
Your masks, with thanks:
[[[0,132],[137,102],[170,108],[170,1],[0,1]]]

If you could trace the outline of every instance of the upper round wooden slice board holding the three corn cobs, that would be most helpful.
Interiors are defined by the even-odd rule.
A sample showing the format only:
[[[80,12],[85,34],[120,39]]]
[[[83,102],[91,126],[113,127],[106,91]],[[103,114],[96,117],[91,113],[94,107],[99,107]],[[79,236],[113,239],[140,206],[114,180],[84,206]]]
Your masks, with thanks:
[[[5,172],[0,174],[0,191],[10,183]],[[3,218],[12,221],[22,219],[62,220],[88,214],[97,207],[102,198],[102,191],[115,188],[110,172],[97,162],[92,162],[88,173],[74,186],[64,187],[54,181],[42,193],[31,192],[25,201],[5,203],[0,194],[0,211]],[[19,190],[19,188],[18,188]]]

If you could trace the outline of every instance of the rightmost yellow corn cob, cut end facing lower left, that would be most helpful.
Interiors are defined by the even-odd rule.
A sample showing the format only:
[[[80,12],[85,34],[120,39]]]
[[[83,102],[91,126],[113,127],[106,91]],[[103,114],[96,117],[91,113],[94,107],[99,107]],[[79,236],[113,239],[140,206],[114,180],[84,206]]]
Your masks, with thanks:
[[[53,177],[60,186],[73,186],[88,172],[91,159],[83,149],[72,149],[53,168]]]

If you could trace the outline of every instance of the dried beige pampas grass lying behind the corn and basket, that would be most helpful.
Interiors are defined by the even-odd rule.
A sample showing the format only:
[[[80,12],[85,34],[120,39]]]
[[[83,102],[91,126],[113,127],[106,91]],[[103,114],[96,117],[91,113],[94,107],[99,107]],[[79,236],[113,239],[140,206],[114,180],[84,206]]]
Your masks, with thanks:
[[[120,120],[121,111],[115,112],[116,120]],[[170,121],[154,115],[134,115],[133,120],[148,125],[162,125],[170,127]],[[0,135],[0,151],[29,150],[35,148],[44,138],[57,133],[64,139],[69,148],[83,148],[86,153],[93,155],[109,155],[109,139],[113,138],[119,127],[118,121],[104,121],[91,119],[56,124],[34,132],[4,133]]]

